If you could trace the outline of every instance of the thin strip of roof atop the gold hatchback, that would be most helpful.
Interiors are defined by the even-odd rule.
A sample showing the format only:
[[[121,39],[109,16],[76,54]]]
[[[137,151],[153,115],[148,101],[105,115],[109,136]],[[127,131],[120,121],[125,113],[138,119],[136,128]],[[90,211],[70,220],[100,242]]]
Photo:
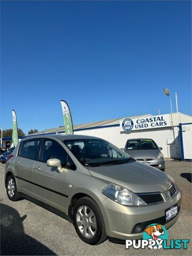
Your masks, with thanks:
[[[37,139],[37,138],[57,138],[60,140],[81,140],[81,139],[99,139],[98,137],[93,137],[93,136],[87,136],[87,135],[77,135],[77,134],[73,134],[73,135],[60,135],[60,134],[52,134],[52,135],[30,135],[22,140],[31,140],[31,139]]]

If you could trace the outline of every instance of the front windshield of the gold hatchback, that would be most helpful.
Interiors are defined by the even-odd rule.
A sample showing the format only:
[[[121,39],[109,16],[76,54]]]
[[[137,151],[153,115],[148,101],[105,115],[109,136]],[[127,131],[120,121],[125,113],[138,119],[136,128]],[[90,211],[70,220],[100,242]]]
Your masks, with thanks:
[[[102,139],[65,140],[63,142],[85,166],[123,164],[134,161],[122,150]]]

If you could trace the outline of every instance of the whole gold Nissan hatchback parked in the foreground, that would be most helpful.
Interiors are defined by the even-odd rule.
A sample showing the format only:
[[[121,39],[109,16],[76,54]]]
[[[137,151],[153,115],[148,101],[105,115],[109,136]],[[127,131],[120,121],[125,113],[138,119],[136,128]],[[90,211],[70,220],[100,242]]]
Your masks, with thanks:
[[[5,186],[11,201],[30,198],[63,212],[92,245],[140,239],[150,223],[167,229],[180,213],[181,191],[168,174],[84,135],[22,139],[6,163]]]

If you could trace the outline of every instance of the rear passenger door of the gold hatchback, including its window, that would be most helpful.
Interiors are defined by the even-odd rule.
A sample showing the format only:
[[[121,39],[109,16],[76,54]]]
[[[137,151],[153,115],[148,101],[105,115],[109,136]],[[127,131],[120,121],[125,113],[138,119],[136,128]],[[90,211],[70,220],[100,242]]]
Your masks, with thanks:
[[[31,195],[32,170],[41,139],[24,140],[14,161],[14,175],[20,192]]]

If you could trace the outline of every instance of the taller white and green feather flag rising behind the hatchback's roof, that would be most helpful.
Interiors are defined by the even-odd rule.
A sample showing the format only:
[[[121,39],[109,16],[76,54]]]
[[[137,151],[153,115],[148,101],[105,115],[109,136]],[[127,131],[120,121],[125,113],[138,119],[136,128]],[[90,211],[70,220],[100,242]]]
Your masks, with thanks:
[[[65,100],[61,100],[60,102],[61,102],[62,113],[63,113],[65,133],[67,135],[68,134],[74,134],[74,132],[73,132],[73,122],[72,122],[69,106],[67,105],[67,102]]]

